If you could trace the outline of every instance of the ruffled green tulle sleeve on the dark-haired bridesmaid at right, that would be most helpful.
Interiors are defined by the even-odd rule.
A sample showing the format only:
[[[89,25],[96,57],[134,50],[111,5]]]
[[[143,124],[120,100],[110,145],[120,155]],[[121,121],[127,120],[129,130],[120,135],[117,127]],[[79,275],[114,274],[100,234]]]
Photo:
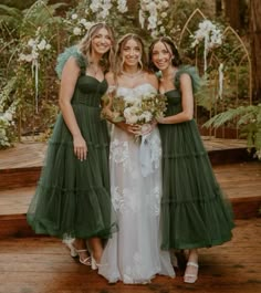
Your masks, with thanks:
[[[201,79],[198,74],[198,70],[194,66],[190,66],[190,65],[182,65],[179,67],[179,70],[177,71],[177,73],[175,75],[175,81],[174,81],[175,87],[177,90],[180,90],[180,76],[182,73],[189,74],[189,76],[191,77],[191,81],[192,81],[194,93],[197,93],[201,86]]]

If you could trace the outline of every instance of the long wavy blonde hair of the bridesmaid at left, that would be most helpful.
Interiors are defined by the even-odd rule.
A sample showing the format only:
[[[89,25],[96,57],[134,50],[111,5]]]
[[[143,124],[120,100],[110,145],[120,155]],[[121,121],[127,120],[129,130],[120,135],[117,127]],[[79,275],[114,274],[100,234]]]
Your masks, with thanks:
[[[112,46],[108,50],[108,52],[106,52],[102,60],[101,60],[101,65],[103,66],[103,69],[107,72],[109,71],[112,67],[114,67],[114,55],[115,55],[115,38],[114,38],[114,31],[113,29],[103,22],[98,22],[93,24],[87,33],[85,34],[85,36],[82,39],[82,41],[79,43],[79,50],[80,52],[83,54],[84,57],[86,57],[87,63],[91,60],[91,54],[92,54],[92,40],[97,35],[98,31],[101,29],[106,29],[108,32],[108,35],[111,38],[112,41]]]

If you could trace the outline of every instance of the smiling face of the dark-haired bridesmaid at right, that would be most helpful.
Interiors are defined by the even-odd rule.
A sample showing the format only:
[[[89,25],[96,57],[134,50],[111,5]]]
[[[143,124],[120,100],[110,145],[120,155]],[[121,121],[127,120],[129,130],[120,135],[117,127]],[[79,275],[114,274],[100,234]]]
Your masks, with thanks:
[[[168,44],[160,41],[155,43],[152,50],[152,61],[158,70],[167,70],[171,65],[171,48]]]

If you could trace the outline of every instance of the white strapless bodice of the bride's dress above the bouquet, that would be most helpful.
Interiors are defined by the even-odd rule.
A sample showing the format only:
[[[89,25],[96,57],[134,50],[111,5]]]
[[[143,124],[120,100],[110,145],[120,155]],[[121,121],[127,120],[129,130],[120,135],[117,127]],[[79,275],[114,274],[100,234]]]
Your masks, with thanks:
[[[150,83],[139,84],[136,85],[135,87],[118,86],[116,90],[117,96],[123,96],[124,98],[127,97],[142,98],[144,94],[148,93],[157,93],[157,90]]]

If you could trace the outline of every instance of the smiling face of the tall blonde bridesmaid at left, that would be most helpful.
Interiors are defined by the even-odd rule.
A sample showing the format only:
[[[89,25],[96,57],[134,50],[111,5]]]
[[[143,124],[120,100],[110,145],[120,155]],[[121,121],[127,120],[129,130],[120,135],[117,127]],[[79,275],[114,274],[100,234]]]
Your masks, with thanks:
[[[112,36],[105,28],[98,29],[92,38],[92,52],[95,54],[103,55],[112,46]]]

